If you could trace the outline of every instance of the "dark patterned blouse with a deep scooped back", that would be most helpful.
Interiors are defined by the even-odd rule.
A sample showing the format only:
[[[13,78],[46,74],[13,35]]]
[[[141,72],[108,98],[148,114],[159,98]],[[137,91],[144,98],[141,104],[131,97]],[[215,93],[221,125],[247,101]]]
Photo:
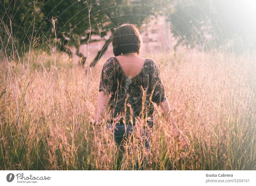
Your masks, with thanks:
[[[159,69],[151,58],[145,59],[140,73],[132,78],[124,74],[117,58],[109,58],[101,71],[99,91],[104,91],[110,97],[109,122],[118,118],[126,124],[134,124],[146,119],[149,127],[153,127],[152,102],[166,100]]]

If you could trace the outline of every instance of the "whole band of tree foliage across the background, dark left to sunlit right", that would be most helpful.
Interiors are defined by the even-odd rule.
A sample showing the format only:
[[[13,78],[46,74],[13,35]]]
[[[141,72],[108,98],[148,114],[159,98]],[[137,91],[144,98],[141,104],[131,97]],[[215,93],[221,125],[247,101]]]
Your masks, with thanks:
[[[78,52],[79,46],[88,42],[90,31],[91,35],[106,40],[106,48],[108,31],[113,33],[114,28],[123,23],[140,28],[152,17],[163,15],[167,16],[166,21],[178,41],[175,48],[183,44],[188,48],[199,46],[202,50],[205,45],[204,50],[222,50],[223,46],[232,45],[230,51],[242,52],[256,45],[253,15],[246,12],[251,9],[250,3],[238,0],[2,0],[0,34],[2,40],[11,34],[20,54],[28,51],[35,37],[40,39],[37,45],[40,50],[54,48],[57,37],[57,50],[70,54],[69,47],[74,46]],[[12,44],[8,43],[8,54]],[[79,52],[77,55],[83,57]]]

